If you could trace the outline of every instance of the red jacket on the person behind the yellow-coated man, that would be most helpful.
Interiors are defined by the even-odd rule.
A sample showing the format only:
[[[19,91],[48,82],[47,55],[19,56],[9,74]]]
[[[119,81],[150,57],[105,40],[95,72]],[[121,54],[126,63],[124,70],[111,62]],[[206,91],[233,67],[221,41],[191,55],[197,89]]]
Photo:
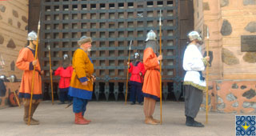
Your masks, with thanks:
[[[58,75],[61,77],[61,79],[58,82],[59,88],[70,87],[70,78],[72,76],[72,72],[72,66],[68,66],[66,69],[64,69],[63,67],[58,67],[58,69],[54,71],[54,75]]]

